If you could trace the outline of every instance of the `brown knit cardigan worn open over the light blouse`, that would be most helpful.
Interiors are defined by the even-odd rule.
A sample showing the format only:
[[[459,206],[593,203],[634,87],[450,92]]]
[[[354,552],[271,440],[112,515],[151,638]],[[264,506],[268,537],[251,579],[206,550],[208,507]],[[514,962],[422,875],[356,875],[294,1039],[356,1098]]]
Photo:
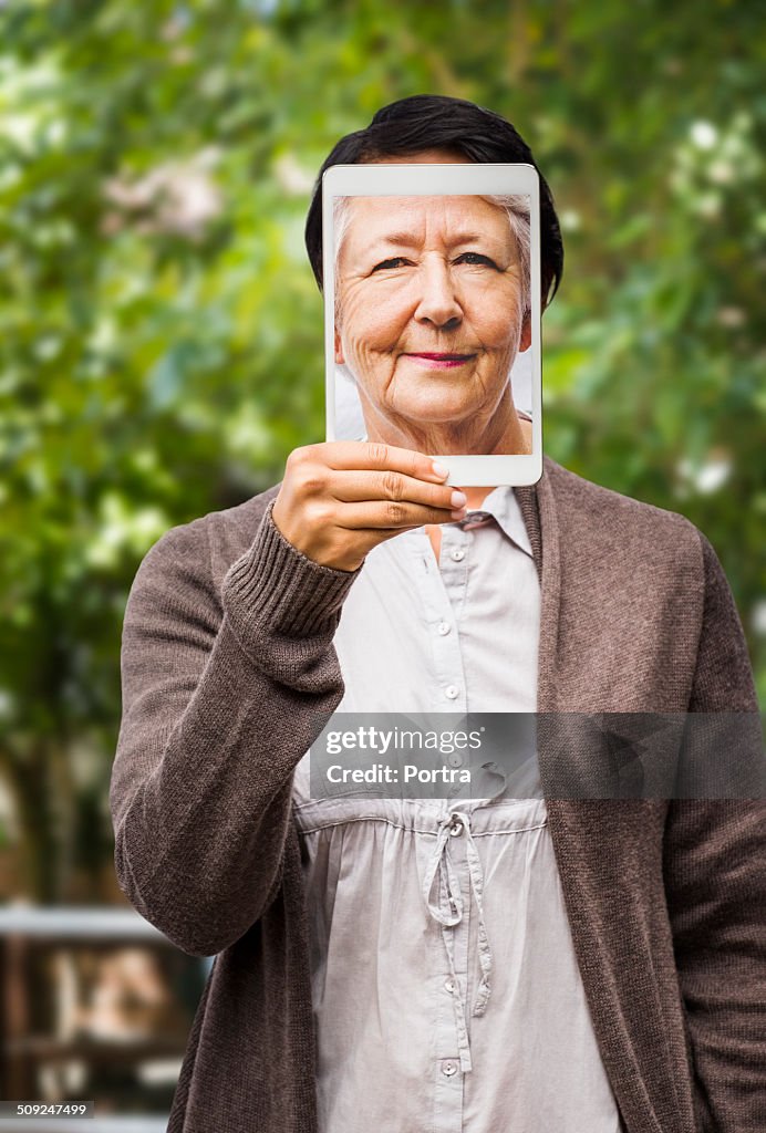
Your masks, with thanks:
[[[332,639],[356,574],[297,552],[275,494],[169,531],[125,619],[117,874],[179,948],[216,954],[170,1133],[316,1130],[290,793],[342,696]],[[691,523],[550,459],[517,497],[542,585],[541,712],[757,710],[731,591]],[[628,1133],[764,1133],[764,803],[546,801]]]

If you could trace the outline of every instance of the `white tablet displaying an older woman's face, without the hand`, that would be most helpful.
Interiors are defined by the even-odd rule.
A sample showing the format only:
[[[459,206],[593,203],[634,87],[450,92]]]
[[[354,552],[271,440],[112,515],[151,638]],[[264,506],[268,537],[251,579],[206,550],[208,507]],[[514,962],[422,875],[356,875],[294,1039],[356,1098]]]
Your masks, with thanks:
[[[460,486],[534,484],[535,168],[333,165],[322,195],[327,440],[428,453]]]

